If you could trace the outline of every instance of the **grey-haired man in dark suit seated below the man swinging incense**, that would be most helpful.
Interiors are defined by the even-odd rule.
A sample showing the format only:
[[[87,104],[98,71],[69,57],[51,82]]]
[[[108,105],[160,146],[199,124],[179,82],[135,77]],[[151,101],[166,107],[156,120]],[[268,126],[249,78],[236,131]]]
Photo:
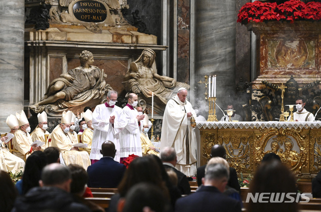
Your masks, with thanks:
[[[177,174],[178,184],[177,187],[180,189],[182,194],[190,194],[191,186],[187,179],[187,176],[181,171],[175,168],[177,163],[176,150],[173,147],[164,147],[160,154],[161,160],[165,169],[172,169]]]

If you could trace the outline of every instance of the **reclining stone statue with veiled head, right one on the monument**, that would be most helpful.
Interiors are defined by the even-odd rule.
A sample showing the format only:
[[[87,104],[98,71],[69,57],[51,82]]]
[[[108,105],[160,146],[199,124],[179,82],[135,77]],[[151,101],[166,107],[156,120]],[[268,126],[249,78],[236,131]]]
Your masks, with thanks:
[[[155,65],[155,52],[146,48],[139,58],[130,64],[125,74],[124,86],[128,93],[138,95],[138,104],[145,109],[151,105],[151,95],[154,93],[154,110],[160,114],[164,113],[167,101],[176,95],[180,87],[190,88],[184,82],[177,82],[176,79],[161,76],[157,73]]]

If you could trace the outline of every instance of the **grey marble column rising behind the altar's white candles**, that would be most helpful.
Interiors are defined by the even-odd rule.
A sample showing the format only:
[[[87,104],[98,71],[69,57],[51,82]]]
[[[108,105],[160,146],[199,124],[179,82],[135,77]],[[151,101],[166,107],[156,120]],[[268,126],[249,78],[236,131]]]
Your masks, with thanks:
[[[235,0],[194,0],[191,18],[192,70],[191,78],[197,82],[204,75],[217,75],[217,103],[224,110],[226,103],[233,100],[235,87]],[[204,84],[195,83],[195,102],[200,112],[204,112]],[[229,97],[230,96],[230,97]],[[204,103],[203,103],[204,102]],[[208,104],[207,104],[208,105]],[[217,107],[216,107],[217,108]],[[207,107],[208,109],[208,107]],[[217,108],[218,119],[223,113]],[[202,115],[208,115],[207,112]]]

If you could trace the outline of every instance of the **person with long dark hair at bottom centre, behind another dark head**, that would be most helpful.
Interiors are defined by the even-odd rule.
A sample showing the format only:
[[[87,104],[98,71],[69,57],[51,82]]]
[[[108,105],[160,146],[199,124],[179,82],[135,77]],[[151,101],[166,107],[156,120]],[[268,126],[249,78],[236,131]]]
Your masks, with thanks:
[[[120,198],[124,198],[128,190],[139,182],[149,182],[161,188],[164,195],[169,200],[169,190],[162,179],[162,174],[156,161],[149,157],[137,157],[128,166],[124,177],[118,185],[119,193],[111,197],[109,212],[117,211],[117,203]]]

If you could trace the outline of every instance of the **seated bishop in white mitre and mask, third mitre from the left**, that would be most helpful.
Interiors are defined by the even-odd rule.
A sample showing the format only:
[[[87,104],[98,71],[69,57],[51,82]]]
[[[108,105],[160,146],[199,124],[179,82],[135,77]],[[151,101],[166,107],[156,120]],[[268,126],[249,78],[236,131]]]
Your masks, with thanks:
[[[31,133],[31,138],[33,141],[41,140],[45,144],[41,146],[41,149],[44,150],[46,148],[46,138],[45,134],[49,134],[48,122],[47,122],[47,113],[43,111],[42,113],[38,113],[38,125],[35,130]]]

